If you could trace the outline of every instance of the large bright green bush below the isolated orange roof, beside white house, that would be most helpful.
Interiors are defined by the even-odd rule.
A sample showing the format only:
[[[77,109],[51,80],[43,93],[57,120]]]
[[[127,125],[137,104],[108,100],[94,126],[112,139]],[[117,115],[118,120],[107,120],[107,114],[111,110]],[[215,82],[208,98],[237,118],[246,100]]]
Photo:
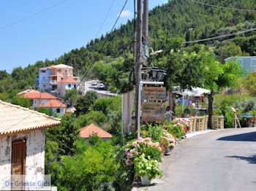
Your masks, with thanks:
[[[78,155],[63,157],[56,181],[58,189],[109,190],[118,169],[110,141],[98,141],[97,144],[80,148],[84,150]]]

